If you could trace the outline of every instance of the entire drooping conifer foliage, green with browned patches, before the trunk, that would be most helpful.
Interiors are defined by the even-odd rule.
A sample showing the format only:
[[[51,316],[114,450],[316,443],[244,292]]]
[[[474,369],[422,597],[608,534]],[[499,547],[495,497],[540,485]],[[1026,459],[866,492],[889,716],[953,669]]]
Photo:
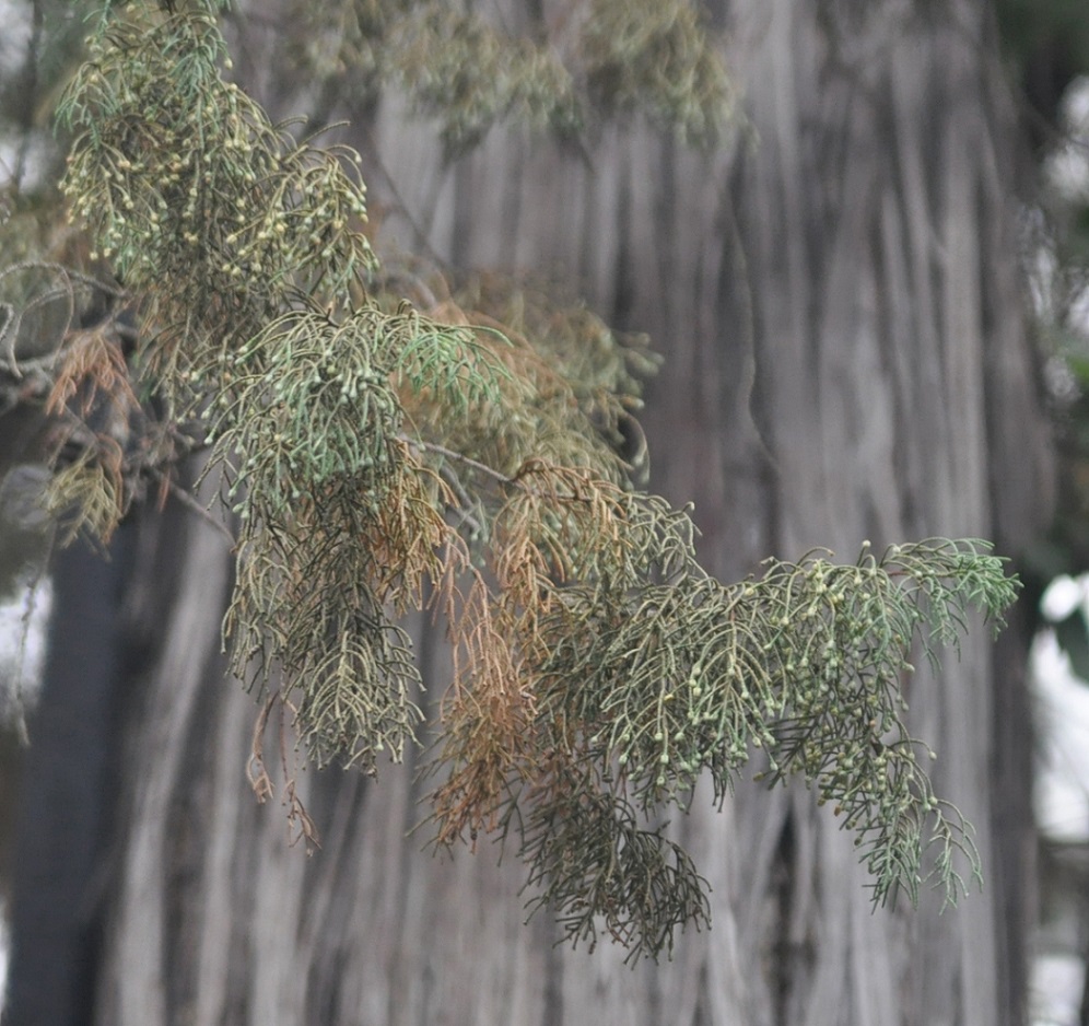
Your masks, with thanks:
[[[388,42],[455,16],[311,7],[333,21],[351,9],[355,46],[367,25]],[[398,26],[401,7],[415,21]],[[724,86],[696,23],[640,3],[646,18],[629,24],[623,7],[579,12],[599,106],[714,136]],[[1003,561],[982,541],[936,540],[710,578],[688,512],[634,490],[616,452],[654,366],[642,341],[511,282],[483,280],[458,303],[379,267],[353,154],[297,142],[223,78],[212,0],[173,8],[108,7],[61,104],[74,137],[63,189],[133,298],[141,341],[131,387],[102,333],[94,346],[77,334],[57,381],[153,389],[157,436],[203,446],[222,480],[237,525],[224,638],[265,697],[258,792],[272,786],[261,733],[276,710],[319,762],[375,772],[380,753],[400,758],[423,681],[398,618],[430,604],[455,658],[436,843],[513,833],[530,906],[573,941],[604,929],[633,958],[657,956],[675,928],[707,922],[705,882],[659,824],[701,776],[722,802],[754,749],[762,773],[835,805],[878,901],[916,898],[928,850],[955,899],[965,868],[979,872],[971,828],[917,761],[902,680],[914,648],[956,643],[969,607],[1000,622],[1016,590]],[[473,46],[499,47],[464,16]],[[448,145],[479,137],[497,108],[458,104],[481,83],[434,39],[412,45],[399,59],[417,61],[406,81],[419,96],[464,85]],[[558,67],[546,77],[562,79]],[[661,78],[649,93],[646,75]],[[519,95],[530,120],[547,107]],[[417,302],[391,291],[412,280]],[[57,501],[93,511],[83,525],[106,535],[131,479],[162,466],[148,446],[80,438],[78,458],[58,453]]]

